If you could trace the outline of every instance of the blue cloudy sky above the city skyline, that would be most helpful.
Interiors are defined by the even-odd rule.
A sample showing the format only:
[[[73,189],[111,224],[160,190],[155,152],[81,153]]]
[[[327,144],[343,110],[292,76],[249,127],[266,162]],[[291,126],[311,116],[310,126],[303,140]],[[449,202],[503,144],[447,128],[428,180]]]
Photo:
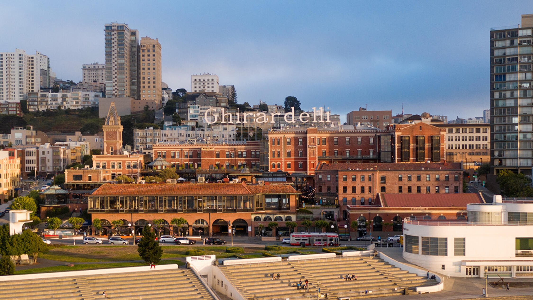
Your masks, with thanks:
[[[490,28],[527,13],[531,1],[0,0],[0,52],[42,52],[78,82],[118,21],[159,39],[173,90],[209,72],[239,103],[472,118],[489,109]]]

